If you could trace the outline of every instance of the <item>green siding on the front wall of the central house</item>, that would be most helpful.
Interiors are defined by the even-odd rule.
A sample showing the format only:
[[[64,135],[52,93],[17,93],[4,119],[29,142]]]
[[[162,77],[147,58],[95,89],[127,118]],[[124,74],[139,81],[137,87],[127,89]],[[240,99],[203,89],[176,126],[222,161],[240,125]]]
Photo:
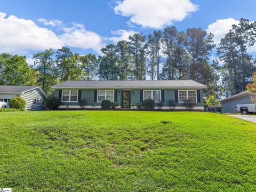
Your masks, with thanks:
[[[70,89],[67,89],[70,90]],[[87,106],[100,106],[100,102],[94,102],[94,90],[95,89],[82,89],[81,93],[81,99],[85,99],[87,101]],[[134,106],[136,106],[136,103],[140,102],[140,90],[142,89],[133,89],[131,90],[131,103],[133,103]],[[145,89],[146,90],[146,89]],[[150,89],[148,89],[150,90]],[[181,90],[181,89],[180,89]],[[200,96],[201,96],[201,102],[197,103],[197,107],[203,107],[204,106],[204,99],[203,99],[203,90],[200,90]],[[132,92],[134,91],[134,94]],[[164,90],[164,100],[163,106],[167,107],[167,101],[169,99],[175,100],[175,94],[174,89],[165,89]],[[122,90],[117,90],[117,93],[120,92],[120,94],[117,94],[117,102],[118,105],[121,106],[121,95]],[[59,97],[59,89],[55,90],[54,93],[55,97]],[[63,106],[78,106],[77,102],[61,102],[61,105]],[[184,103],[177,103],[177,107],[184,106]]]

